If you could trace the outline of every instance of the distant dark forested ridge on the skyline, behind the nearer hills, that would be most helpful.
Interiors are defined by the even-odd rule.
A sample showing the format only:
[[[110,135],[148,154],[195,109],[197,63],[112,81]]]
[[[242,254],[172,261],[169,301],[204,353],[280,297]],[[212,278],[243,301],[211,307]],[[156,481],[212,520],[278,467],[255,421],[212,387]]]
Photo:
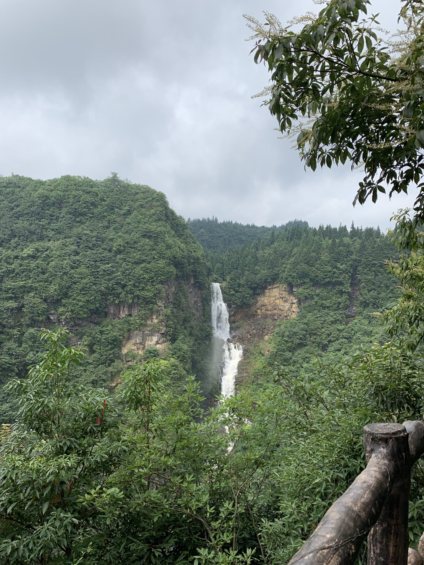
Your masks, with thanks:
[[[218,221],[218,218],[196,218],[187,220],[188,229],[192,232],[201,246],[207,250],[224,253],[230,246],[243,245],[261,237],[267,237],[271,232],[282,232],[292,225],[306,225],[307,221],[293,220],[279,227],[276,225],[239,224],[233,221]]]

